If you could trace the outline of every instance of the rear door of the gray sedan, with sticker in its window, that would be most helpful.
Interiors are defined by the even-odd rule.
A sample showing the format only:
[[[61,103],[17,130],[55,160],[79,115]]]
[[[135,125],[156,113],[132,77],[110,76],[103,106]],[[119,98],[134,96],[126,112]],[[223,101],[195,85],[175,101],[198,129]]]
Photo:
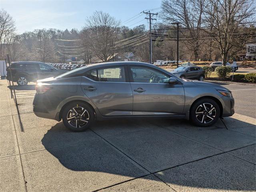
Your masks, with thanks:
[[[118,73],[122,73],[122,77],[117,78]],[[107,68],[103,72],[100,69],[89,72],[88,78],[82,77],[81,88],[84,94],[95,104],[102,116],[132,115],[133,96],[130,83],[107,82],[125,81],[123,73],[124,67],[120,71],[117,68]]]

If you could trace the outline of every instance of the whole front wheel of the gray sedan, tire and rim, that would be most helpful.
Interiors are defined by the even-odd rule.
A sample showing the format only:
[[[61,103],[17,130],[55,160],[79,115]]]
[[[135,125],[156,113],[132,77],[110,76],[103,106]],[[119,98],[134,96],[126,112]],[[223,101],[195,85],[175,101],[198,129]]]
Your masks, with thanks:
[[[214,107],[210,112],[206,112]],[[204,117],[203,117],[204,116]],[[219,105],[210,98],[203,98],[196,101],[190,108],[190,121],[195,126],[208,127],[215,124],[220,117]],[[213,119],[212,119],[213,118]]]

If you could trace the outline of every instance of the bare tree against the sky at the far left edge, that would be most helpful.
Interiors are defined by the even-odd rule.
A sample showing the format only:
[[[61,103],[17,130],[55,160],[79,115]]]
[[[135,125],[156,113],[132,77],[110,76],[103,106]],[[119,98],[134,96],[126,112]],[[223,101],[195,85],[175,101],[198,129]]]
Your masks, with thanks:
[[[4,47],[8,36],[15,31],[15,24],[12,16],[6,10],[0,10],[0,59],[4,59]]]

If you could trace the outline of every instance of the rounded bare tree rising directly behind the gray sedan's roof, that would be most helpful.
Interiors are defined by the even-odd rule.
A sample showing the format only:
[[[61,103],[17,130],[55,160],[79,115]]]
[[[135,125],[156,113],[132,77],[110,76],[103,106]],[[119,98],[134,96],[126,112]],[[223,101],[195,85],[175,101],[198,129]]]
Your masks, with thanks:
[[[92,52],[106,62],[113,55],[112,44],[120,22],[108,13],[96,11],[86,19],[86,28],[91,31]]]

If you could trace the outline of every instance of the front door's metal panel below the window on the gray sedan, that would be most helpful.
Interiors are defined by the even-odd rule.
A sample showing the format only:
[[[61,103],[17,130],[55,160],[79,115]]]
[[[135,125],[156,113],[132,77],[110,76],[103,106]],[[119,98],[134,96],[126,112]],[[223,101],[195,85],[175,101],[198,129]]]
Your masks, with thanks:
[[[181,84],[131,83],[133,91],[133,115],[182,114],[184,88]],[[134,91],[137,89],[143,92]]]

